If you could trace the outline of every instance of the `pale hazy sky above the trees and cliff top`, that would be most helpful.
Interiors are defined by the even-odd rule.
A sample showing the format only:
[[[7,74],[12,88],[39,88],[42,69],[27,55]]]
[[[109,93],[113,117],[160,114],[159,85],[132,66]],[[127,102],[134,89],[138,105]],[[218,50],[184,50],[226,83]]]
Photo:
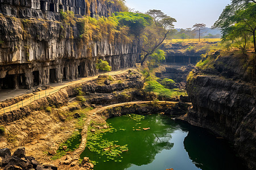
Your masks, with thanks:
[[[191,28],[195,23],[211,27],[230,0],[126,0],[129,8],[146,12],[161,10],[175,18],[175,28]]]

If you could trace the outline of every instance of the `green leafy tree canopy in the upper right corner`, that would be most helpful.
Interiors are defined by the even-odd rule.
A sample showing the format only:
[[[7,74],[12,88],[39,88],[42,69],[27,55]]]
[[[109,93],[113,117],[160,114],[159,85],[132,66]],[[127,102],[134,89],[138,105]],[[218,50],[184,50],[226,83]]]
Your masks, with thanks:
[[[226,6],[220,18],[214,23],[214,27],[221,28],[224,42],[232,41],[236,43],[243,53],[247,41],[250,40],[249,37],[253,36],[251,40],[253,40],[255,51],[256,3],[246,2],[242,3],[242,6],[238,4],[240,3],[233,1],[231,5]],[[229,43],[229,45],[232,44]]]

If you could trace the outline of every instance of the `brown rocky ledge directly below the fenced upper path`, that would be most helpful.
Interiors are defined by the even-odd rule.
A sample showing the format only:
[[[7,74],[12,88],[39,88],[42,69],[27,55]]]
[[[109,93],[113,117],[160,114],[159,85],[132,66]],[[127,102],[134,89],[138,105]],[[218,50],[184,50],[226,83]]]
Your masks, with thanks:
[[[68,103],[69,97],[77,96],[77,90],[80,89],[81,92],[84,92],[85,97],[88,97],[88,104],[113,104],[119,103],[115,94],[120,93],[120,98],[122,97],[121,101],[127,101],[126,93],[122,93],[121,91],[129,88],[139,89],[142,88],[144,84],[144,80],[142,79],[141,75],[134,71],[133,75],[130,75],[129,71],[127,71],[127,73],[115,75],[114,78],[116,80],[122,79],[123,82],[118,83],[116,81],[115,83],[112,83],[110,85],[101,85],[97,83],[97,80],[91,80],[88,82],[78,83],[72,86],[61,88],[61,90],[56,92],[55,94],[52,94],[39,100],[35,100],[26,107],[16,109],[9,113],[1,114],[0,124],[9,124],[16,120],[19,120],[24,116],[29,116],[31,112],[40,111],[48,106],[59,108]],[[115,93],[112,94],[113,92]],[[133,91],[130,91],[129,93],[132,94]],[[92,94],[96,94],[96,96],[98,95],[98,97],[93,97],[94,95]],[[105,97],[99,97],[101,95],[104,95]]]

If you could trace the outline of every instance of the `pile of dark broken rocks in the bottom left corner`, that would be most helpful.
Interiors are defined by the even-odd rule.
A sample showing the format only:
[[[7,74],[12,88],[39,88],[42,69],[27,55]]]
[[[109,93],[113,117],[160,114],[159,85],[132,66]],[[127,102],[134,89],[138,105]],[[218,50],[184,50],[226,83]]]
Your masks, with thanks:
[[[55,165],[42,165],[34,157],[26,156],[24,147],[19,147],[13,155],[11,155],[9,148],[2,148],[0,150],[0,167],[5,170],[57,170]]]

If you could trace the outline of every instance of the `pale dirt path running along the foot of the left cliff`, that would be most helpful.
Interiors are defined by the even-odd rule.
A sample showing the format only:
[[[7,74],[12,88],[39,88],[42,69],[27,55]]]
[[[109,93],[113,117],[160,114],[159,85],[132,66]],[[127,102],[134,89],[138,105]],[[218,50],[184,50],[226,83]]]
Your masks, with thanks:
[[[134,70],[134,69],[135,68],[123,69],[123,70],[118,70],[118,71],[110,71],[107,75],[117,75],[117,74],[125,73],[127,70]],[[64,83],[51,84],[51,89],[36,92],[32,97],[29,97],[28,99],[24,99],[24,100],[20,101],[19,103],[15,103],[13,105],[10,105],[9,107],[5,107],[5,108],[0,109],[0,114],[7,113],[7,112],[10,112],[10,111],[14,111],[16,109],[24,107],[24,106],[32,103],[35,100],[42,99],[43,97],[46,97],[46,96],[49,96],[49,95],[52,95],[52,94],[56,93],[61,88],[71,86],[73,84],[88,82],[90,80],[94,80],[94,79],[97,79],[97,78],[98,78],[98,75],[81,78],[79,80],[75,80],[75,81],[67,82],[67,83],[64,82]],[[20,91],[20,92],[22,92],[24,94],[24,91]],[[9,92],[9,93],[11,93],[11,92]],[[17,92],[15,92],[15,91],[14,91],[14,93],[17,94]],[[22,94],[19,94],[19,95],[22,95]]]

